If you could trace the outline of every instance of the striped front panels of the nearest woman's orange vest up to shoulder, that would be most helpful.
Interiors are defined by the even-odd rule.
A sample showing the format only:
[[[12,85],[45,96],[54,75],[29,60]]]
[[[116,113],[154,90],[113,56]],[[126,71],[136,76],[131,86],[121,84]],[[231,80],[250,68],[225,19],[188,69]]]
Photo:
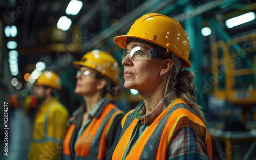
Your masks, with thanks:
[[[176,101],[173,106],[169,106],[165,111],[160,114],[155,121],[151,124],[150,128],[147,128],[142,135],[137,139],[135,144],[133,145],[133,148],[130,150],[130,153],[125,155],[127,159],[164,159],[165,157],[165,150],[167,149],[168,142],[167,138],[170,135],[172,135],[172,131],[175,128],[175,120],[172,123],[173,125],[169,125],[168,127],[165,127],[165,124],[167,121],[169,121],[170,118],[173,116],[170,116],[173,112],[175,112],[177,109],[186,109],[194,114],[195,111],[192,110],[187,104],[184,104],[184,101],[179,99]],[[201,120],[196,115],[191,115],[190,117],[195,117],[198,121],[201,122]],[[174,115],[176,116],[176,115]],[[179,116],[179,115],[177,115]],[[176,121],[179,119],[177,118]],[[136,127],[138,120],[135,119],[130,113],[127,116],[127,119],[125,120],[120,138],[119,143],[114,151],[113,159],[123,159],[123,154],[125,153],[125,149],[129,146],[130,139],[132,137],[133,130]],[[202,122],[201,122],[202,123]],[[165,132],[165,134],[163,134]],[[164,137],[164,139],[163,139]],[[162,140],[163,139],[163,140]],[[160,141],[164,141],[164,146],[160,144]],[[137,144],[138,143],[138,144]],[[137,145],[136,145],[137,144]],[[159,148],[161,148],[159,150]],[[164,151],[164,154],[162,153]],[[158,155],[161,154],[161,155]]]

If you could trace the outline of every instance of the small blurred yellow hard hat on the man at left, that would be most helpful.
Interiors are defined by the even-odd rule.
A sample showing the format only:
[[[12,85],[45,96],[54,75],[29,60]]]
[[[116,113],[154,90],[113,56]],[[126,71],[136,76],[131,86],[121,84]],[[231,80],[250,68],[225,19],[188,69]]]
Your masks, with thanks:
[[[61,79],[52,71],[44,71],[38,79],[36,79],[35,85],[42,85],[56,90],[61,90]]]

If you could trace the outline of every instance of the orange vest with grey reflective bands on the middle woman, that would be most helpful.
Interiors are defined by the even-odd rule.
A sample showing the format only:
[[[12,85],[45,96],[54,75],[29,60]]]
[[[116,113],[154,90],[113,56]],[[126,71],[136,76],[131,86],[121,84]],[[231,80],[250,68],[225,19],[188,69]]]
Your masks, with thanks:
[[[64,159],[110,159],[121,132],[123,111],[112,103],[106,104],[100,116],[92,117],[78,135],[84,112],[84,106],[80,107],[71,120],[63,141]]]

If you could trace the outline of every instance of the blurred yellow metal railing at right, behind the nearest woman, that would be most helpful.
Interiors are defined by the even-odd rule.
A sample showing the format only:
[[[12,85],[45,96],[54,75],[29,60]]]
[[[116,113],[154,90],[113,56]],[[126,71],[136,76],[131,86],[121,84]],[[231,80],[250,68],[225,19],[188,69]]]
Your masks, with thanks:
[[[242,44],[242,45],[241,45]],[[232,47],[237,46],[234,51]],[[239,47],[238,47],[239,46]],[[220,56],[222,49],[222,57]],[[220,77],[214,82],[214,94],[217,98],[228,99],[236,104],[256,104],[256,33],[230,39],[228,42],[218,41],[212,47],[212,70],[216,75],[224,75],[225,85],[220,89]],[[250,55],[251,54],[251,55]],[[253,57],[253,58],[249,58]],[[247,58],[247,59],[246,59]],[[238,66],[238,62],[245,60],[251,66]],[[236,68],[237,67],[237,68]],[[253,77],[251,84],[241,84],[243,88],[236,88],[236,78],[242,76]],[[238,83],[237,83],[238,84]]]

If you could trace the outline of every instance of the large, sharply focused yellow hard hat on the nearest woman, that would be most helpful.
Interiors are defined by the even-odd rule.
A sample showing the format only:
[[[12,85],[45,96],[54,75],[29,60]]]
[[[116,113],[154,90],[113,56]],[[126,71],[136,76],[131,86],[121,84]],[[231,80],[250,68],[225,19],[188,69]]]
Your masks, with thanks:
[[[115,37],[114,42],[124,49],[127,38],[137,38],[161,46],[166,52],[173,52],[185,61],[183,68],[191,67],[188,60],[189,38],[173,18],[158,13],[145,14],[134,22],[127,35]]]

